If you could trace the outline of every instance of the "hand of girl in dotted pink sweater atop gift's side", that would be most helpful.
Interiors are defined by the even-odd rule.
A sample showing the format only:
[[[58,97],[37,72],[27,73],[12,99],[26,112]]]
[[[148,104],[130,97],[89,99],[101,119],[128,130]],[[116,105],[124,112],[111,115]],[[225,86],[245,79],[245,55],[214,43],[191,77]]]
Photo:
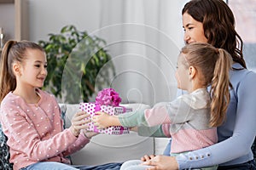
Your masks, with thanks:
[[[90,114],[84,111],[80,111],[73,116],[71,120],[72,126],[70,127],[70,130],[74,136],[78,137],[81,129],[89,127],[87,123],[89,123],[91,120],[85,119],[89,116]]]

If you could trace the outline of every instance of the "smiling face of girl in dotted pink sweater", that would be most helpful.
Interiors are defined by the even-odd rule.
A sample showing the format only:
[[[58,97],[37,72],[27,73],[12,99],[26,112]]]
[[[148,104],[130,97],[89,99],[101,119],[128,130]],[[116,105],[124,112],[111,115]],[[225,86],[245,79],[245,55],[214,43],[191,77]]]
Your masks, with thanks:
[[[38,49],[27,49],[26,59],[22,61],[20,82],[25,87],[42,88],[47,76],[47,60],[44,52]]]

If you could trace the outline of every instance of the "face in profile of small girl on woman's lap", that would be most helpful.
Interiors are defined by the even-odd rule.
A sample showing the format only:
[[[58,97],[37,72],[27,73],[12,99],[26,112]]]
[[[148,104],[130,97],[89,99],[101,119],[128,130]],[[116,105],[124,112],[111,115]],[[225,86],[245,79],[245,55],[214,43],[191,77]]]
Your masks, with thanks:
[[[188,90],[189,88],[189,65],[185,65],[184,54],[179,54],[177,58],[176,80],[177,88]]]

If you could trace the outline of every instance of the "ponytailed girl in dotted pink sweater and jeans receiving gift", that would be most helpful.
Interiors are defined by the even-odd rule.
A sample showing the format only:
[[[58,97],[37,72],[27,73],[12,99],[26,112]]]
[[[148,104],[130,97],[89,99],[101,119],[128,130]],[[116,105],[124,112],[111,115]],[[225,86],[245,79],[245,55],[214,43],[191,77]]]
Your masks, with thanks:
[[[63,129],[54,95],[40,89],[47,76],[44,49],[34,42],[6,42],[0,69],[0,120],[14,170],[93,168],[74,167],[66,157],[82,149],[96,133],[84,130],[90,114],[82,111],[74,114],[71,127]],[[119,163],[109,163],[97,169],[119,167]]]

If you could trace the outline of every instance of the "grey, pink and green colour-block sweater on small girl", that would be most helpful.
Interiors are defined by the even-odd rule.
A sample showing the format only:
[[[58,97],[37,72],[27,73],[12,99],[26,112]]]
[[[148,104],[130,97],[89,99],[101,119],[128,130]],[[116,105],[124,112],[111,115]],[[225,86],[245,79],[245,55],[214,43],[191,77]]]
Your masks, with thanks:
[[[218,141],[217,129],[209,127],[209,104],[207,89],[197,89],[166,105],[119,115],[119,121],[124,127],[162,125],[149,133],[172,136],[172,153],[198,150]],[[150,136],[147,129],[139,128],[139,134]]]

